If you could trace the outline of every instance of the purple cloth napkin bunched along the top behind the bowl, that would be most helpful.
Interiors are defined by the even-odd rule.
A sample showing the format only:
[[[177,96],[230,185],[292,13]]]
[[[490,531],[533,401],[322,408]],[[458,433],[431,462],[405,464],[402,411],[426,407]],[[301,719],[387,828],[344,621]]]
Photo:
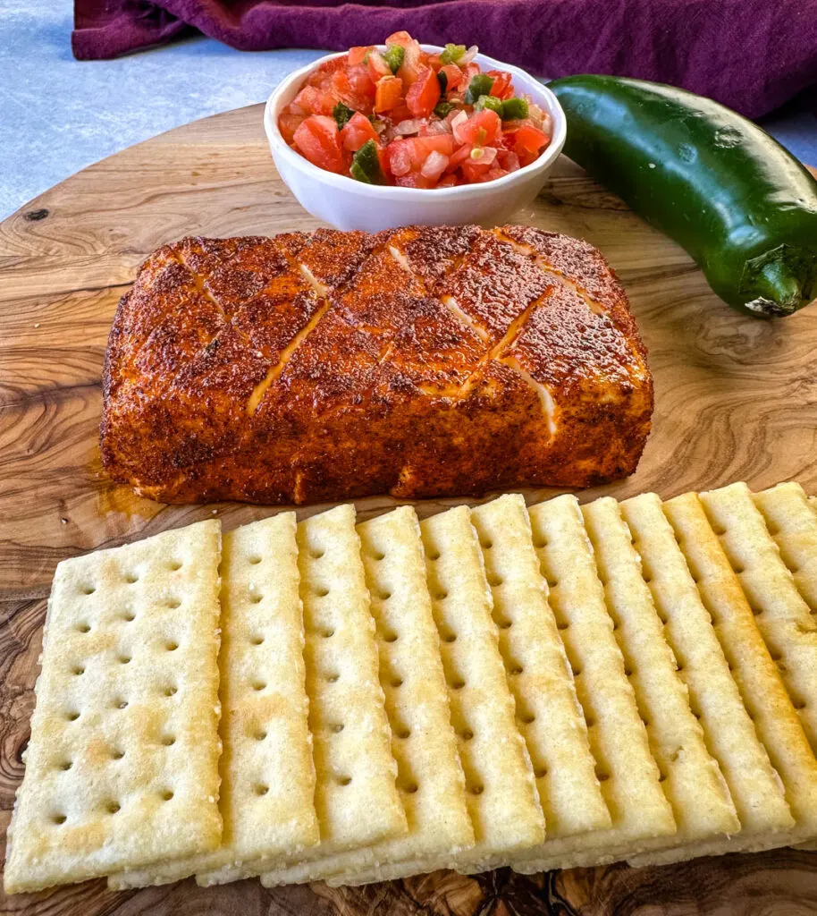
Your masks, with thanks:
[[[749,117],[817,85],[817,0],[75,0],[71,42],[80,60],[112,58],[190,27],[248,51],[342,50],[404,28],[539,75],[670,82]]]

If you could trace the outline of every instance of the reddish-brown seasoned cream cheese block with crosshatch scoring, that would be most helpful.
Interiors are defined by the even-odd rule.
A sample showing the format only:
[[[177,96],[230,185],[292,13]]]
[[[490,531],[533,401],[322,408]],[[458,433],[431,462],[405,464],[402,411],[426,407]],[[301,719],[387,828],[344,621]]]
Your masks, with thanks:
[[[624,289],[568,236],[187,238],[116,313],[102,461],[170,503],[588,486],[635,470],[652,401]]]

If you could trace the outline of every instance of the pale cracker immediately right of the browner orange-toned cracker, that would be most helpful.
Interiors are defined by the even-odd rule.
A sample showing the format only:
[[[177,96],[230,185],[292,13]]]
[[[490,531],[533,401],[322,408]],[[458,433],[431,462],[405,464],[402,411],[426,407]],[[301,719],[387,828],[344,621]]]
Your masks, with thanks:
[[[817,750],[817,623],[746,484],[700,495],[806,737]]]

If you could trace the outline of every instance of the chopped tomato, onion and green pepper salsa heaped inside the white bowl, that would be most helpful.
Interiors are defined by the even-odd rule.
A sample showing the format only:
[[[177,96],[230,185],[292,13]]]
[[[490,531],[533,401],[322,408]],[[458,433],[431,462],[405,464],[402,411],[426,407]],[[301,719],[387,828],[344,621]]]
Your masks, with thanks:
[[[428,53],[408,32],[385,50],[351,48],[312,72],[278,117],[289,146],[320,169],[367,184],[453,188],[529,165],[551,140],[550,116],[483,72],[477,47]]]

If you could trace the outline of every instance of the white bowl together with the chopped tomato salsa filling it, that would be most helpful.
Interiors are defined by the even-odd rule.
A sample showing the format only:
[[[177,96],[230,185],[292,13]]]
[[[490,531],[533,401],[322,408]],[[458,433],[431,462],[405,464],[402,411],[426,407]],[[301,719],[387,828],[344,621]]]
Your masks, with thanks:
[[[373,58],[372,67],[379,67],[379,59],[383,58],[391,71],[394,57],[398,56],[393,52],[389,55],[393,44],[394,42],[392,46],[382,45],[374,49],[378,51],[378,57]],[[418,47],[424,55],[419,58],[420,61],[431,57],[434,63],[441,64],[440,69],[450,66],[442,60],[446,48],[433,45]],[[360,64],[354,63],[352,66],[363,66],[368,72],[372,60],[370,51],[368,48],[356,50],[352,60],[360,57]],[[459,49],[456,53],[458,52]],[[383,110],[375,112],[379,81],[371,81],[369,77],[374,86],[374,98],[371,98],[371,88],[365,83],[362,85],[366,93],[361,95],[371,102],[371,115],[364,114],[368,105],[359,98],[351,97],[349,94],[345,97],[336,97],[336,93],[330,93],[321,87],[320,83],[326,83],[327,77],[332,80],[334,74],[346,70],[349,52],[329,54],[290,74],[267,101],[264,128],[275,165],[298,202],[318,219],[326,220],[339,229],[376,232],[407,224],[495,224],[510,216],[520,206],[532,201],[541,190],[548,170],[564,146],[564,112],[554,94],[530,74],[478,52],[474,53],[474,49],[465,49],[465,53],[469,55],[469,59],[463,61],[460,58],[463,65],[456,64],[463,73],[460,81],[461,101],[450,101],[455,87],[452,86],[452,92],[449,93],[446,86],[446,93],[443,93],[441,81],[435,78],[440,93],[431,108],[431,114],[413,114],[412,118],[402,115],[406,112],[412,114],[408,104],[405,104],[405,99],[417,80],[414,80],[409,85],[409,90],[406,90],[402,78],[398,77],[404,94],[398,98],[395,93],[394,98],[397,101],[391,108],[384,107],[384,104],[390,104],[392,100],[383,97],[385,90],[382,89],[381,104],[377,107]],[[368,60],[367,54],[370,55]],[[410,60],[411,57],[412,55],[409,55]],[[437,61],[437,58],[440,60]],[[406,51],[403,50],[403,61],[397,65],[397,72],[392,73],[392,77],[398,76],[405,59]],[[470,64],[474,67],[467,70]],[[428,65],[422,63],[418,68],[421,75],[426,66]],[[433,66],[431,70],[434,71]],[[488,76],[491,71],[507,75],[498,83],[496,76],[490,76],[489,79],[493,82],[490,83],[489,93],[474,96],[473,93],[479,88],[488,88],[487,81],[482,82],[481,87],[478,82],[470,96],[474,98],[474,102],[466,102],[466,95],[474,76]],[[382,76],[385,77],[386,74]],[[467,84],[462,82],[465,77],[468,77]],[[411,99],[415,111],[427,111],[430,102],[435,99],[433,87],[431,90],[427,88],[427,74],[424,79],[425,82],[420,83],[420,88],[414,91]],[[334,81],[336,85],[339,82],[343,89],[346,88],[341,78],[335,76]],[[360,83],[358,85],[360,87]],[[302,95],[307,86],[317,92],[310,91],[306,96]],[[509,91],[511,94],[508,94]],[[507,98],[491,95],[491,92],[507,95]],[[480,95],[486,96],[481,103]],[[293,106],[292,103],[299,96],[299,101]],[[453,97],[457,98],[457,95]],[[500,112],[500,104],[512,102],[514,99],[527,104],[527,118],[511,116],[524,111],[521,106],[514,111],[513,104]],[[454,105],[457,110],[455,111],[455,107],[447,111],[440,108],[435,113],[434,109],[441,101]],[[330,102],[331,108],[328,107]],[[340,107],[340,104],[344,107]],[[355,108],[353,104],[358,104],[359,107]],[[312,110],[308,110],[309,108]],[[322,114],[327,110],[329,114]],[[489,114],[485,114],[486,112]],[[360,117],[356,117],[357,114]],[[462,114],[465,115],[464,118]],[[507,116],[503,117],[503,114]],[[283,119],[282,115],[285,115]],[[306,128],[308,139],[304,139],[303,125],[310,117],[331,119],[333,125],[327,121],[318,121],[317,125],[313,122],[312,124],[320,129],[314,131],[311,127]],[[452,125],[457,118],[456,123]],[[536,119],[539,126],[536,125]],[[363,120],[366,122],[365,125],[361,123]],[[524,142],[530,141],[532,146],[534,143],[538,144],[541,139],[538,135],[526,138],[524,132],[517,136],[522,127],[529,126],[521,123],[526,120],[531,121],[530,126],[533,129],[546,135],[547,142],[520,155]],[[406,124],[407,121],[421,123]],[[302,129],[300,137],[306,148],[310,148],[310,140],[314,142],[312,158],[319,159],[320,150],[326,150],[329,161],[333,164],[332,169],[321,168],[296,147],[295,135],[299,128]],[[517,149],[517,140],[520,141],[520,151]],[[371,146],[367,150],[364,147],[370,141]],[[396,145],[389,150],[392,144]],[[459,150],[464,151],[458,152]],[[432,157],[431,162],[428,162],[433,153],[439,153],[439,156]],[[518,164],[511,154],[519,159]],[[359,175],[353,177],[351,169],[356,164],[356,155],[356,171],[359,171]],[[447,161],[444,162],[442,157]],[[484,161],[480,162],[482,159]],[[473,165],[468,164],[463,169],[466,162]],[[362,169],[362,174],[359,169]],[[373,174],[371,169],[374,169]],[[381,175],[378,175],[376,169],[380,169]],[[453,179],[450,178],[452,175]],[[383,183],[376,183],[380,180]]]

